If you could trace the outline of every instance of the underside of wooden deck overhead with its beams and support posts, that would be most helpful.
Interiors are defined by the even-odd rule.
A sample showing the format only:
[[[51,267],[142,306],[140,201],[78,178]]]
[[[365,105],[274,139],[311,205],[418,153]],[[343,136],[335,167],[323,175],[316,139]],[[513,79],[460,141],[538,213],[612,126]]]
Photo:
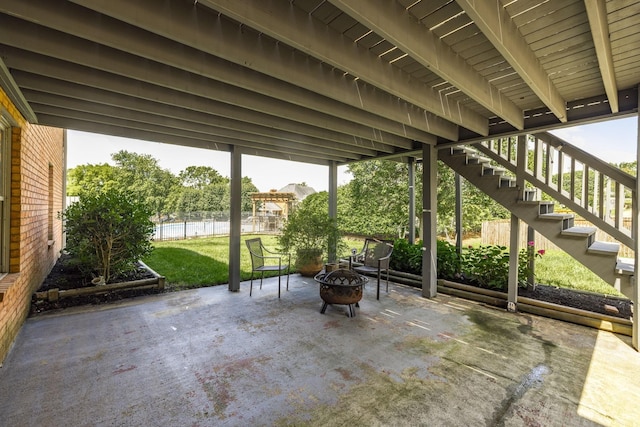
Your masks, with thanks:
[[[436,150],[637,115],[639,83],[637,1],[0,2],[29,121],[231,153],[231,290],[242,154],[328,166],[333,215],[338,165],[421,157],[433,296]]]

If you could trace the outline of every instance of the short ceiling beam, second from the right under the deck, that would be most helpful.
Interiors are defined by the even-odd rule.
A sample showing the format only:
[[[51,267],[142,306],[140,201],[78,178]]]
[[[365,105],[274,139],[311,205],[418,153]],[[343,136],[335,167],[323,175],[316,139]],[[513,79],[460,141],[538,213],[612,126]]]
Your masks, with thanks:
[[[566,122],[565,100],[502,4],[497,0],[456,0],[456,3],[469,15],[485,37],[531,87],[538,98],[549,107],[558,120]]]

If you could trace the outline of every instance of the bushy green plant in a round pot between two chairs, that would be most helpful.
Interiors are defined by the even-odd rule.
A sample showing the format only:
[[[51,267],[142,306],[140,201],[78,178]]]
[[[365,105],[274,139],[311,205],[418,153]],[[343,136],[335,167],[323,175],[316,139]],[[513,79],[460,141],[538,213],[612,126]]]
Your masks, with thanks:
[[[285,222],[278,243],[284,252],[295,253],[295,268],[312,277],[322,270],[330,245],[342,249],[342,236],[336,220],[301,204]]]

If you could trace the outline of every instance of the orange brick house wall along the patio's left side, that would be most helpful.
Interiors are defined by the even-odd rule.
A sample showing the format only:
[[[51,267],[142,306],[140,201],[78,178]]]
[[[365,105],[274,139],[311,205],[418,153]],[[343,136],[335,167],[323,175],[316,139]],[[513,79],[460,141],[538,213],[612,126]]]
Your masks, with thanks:
[[[0,109],[17,123],[11,128],[11,194],[6,198],[11,203],[9,274],[0,279],[1,364],[29,314],[32,293],[60,256],[64,131],[27,123],[1,88]]]

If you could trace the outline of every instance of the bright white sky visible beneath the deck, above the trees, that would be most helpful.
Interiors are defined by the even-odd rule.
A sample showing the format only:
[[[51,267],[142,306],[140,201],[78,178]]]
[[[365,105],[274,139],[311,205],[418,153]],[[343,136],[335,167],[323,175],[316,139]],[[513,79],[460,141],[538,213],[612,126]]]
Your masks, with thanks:
[[[597,155],[607,162],[621,163],[636,159],[637,117],[611,120],[553,131],[577,147]],[[210,166],[222,176],[230,175],[229,153],[160,144],[115,136],[69,130],[67,133],[67,167],[84,164],[113,164],[111,154],[126,150],[150,154],[160,167],[177,175],[187,166]],[[338,185],[349,182],[346,166],[338,168]],[[251,178],[260,191],[279,190],[287,184],[302,183],[316,191],[329,187],[329,168],[286,160],[242,156],[242,176]]]

